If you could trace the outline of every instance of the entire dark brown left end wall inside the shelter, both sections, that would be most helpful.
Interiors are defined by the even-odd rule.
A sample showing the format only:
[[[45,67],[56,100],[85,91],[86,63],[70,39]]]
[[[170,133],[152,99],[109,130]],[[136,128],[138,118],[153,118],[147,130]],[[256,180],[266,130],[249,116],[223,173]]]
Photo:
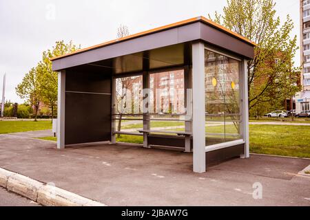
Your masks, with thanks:
[[[110,140],[110,73],[66,71],[65,75],[65,144]]]

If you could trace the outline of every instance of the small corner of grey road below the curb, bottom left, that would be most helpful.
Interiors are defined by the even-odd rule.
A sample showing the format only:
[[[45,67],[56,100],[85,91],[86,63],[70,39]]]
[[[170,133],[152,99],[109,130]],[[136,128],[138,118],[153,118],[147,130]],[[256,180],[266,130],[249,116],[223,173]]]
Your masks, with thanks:
[[[0,206],[39,206],[39,204],[0,187]]]

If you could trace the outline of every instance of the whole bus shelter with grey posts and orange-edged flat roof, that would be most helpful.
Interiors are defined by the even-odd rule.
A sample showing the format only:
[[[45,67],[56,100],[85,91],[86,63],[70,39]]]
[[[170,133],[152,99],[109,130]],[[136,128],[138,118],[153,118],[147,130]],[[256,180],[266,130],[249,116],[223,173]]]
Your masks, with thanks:
[[[193,168],[249,157],[247,61],[255,43],[196,17],[52,58],[57,148],[140,138]]]

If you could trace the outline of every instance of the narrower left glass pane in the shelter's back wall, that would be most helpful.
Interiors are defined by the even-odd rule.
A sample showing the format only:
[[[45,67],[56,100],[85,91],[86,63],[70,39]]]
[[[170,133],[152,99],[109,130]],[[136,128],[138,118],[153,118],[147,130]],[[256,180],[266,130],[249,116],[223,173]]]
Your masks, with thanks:
[[[142,76],[116,78],[116,131],[138,133],[143,128]]]

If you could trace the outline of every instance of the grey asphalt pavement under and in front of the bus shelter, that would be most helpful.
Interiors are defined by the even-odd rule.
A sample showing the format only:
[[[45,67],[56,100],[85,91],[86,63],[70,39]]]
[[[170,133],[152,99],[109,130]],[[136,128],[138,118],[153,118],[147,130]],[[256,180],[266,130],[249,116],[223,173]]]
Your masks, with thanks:
[[[192,172],[192,154],[103,144],[57,150],[44,140],[0,135],[0,167],[108,206],[310,206],[309,159],[251,155]],[[253,184],[262,184],[254,199]]]

